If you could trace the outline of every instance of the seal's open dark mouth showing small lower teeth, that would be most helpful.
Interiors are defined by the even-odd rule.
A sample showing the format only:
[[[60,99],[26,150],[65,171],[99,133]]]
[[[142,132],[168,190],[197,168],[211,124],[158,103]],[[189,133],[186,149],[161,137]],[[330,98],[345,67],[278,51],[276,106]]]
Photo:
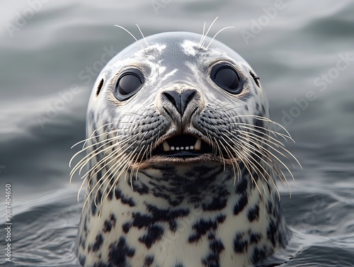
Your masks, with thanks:
[[[164,157],[198,157],[201,154],[212,154],[212,147],[192,135],[171,137],[152,151],[152,155]]]

